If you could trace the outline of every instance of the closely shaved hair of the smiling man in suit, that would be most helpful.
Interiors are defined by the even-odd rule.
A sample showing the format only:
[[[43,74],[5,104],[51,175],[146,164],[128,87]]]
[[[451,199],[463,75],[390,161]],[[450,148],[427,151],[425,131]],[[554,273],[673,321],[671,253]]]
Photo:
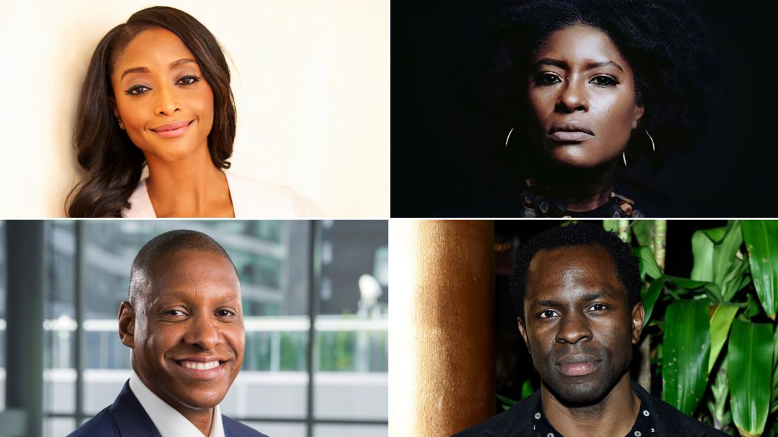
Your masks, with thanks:
[[[149,243],[145,243],[145,246],[135,256],[135,260],[132,261],[129,290],[131,305],[135,306],[138,296],[142,295],[151,285],[152,267],[158,264],[163,257],[183,250],[214,253],[229,260],[235,268],[227,251],[202,232],[177,229],[159,234],[150,239]],[[237,274],[237,270],[235,273]]]

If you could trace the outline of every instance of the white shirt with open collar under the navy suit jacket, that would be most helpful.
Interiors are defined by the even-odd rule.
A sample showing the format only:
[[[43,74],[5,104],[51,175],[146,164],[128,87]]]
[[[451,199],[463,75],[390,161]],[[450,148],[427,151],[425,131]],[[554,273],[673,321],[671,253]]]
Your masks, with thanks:
[[[138,398],[138,402],[146,414],[149,414],[149,418],[154,422],[154,426],[162,437],[203,437],[202,432],[191,421],[184,418],[183,414],[170,407],[149,390],[149,387],[145,386],[135,371],[130,375],[130,390]],[[224,437],[222,411],[219,405],[213,407],[213,420],[208,437]]]

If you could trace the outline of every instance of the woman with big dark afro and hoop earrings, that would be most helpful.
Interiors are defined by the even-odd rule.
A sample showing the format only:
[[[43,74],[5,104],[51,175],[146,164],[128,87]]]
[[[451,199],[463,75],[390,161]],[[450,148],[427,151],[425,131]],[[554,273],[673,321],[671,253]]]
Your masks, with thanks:
[[[486,138],[512,179],[458,215],[694,212],[640,184],[710,131],[719,58],[684,2],[516,2],[473,41],[466,89],[478,91],[458,91],[479,110],[462,141],[483,153]]]

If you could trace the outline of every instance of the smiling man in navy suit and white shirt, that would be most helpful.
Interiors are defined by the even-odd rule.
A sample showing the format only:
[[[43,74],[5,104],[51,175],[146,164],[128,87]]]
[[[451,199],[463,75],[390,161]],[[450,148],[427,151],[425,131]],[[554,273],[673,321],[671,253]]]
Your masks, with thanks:
[[[132,349],[132,376],[71,436],[264,436],[219,409],[243,362],[245,330],[237,271],[209,236],[170,231],[143,246],[119,337]]]

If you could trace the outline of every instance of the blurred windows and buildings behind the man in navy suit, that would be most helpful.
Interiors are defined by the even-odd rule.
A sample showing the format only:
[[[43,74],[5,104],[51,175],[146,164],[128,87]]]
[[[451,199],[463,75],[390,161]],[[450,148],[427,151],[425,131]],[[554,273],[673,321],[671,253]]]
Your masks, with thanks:
[[[12,227],[0,222],[0,411]],[[119,303],[135,254],[170,229],[212,236],[240,274],[246,354],[223,414],[271,436],[387,435],[387,222],[345,220],[38,222],[40,265],[24,268],[43,277],[43,341],[29,342],[44,362],[43,435],[67,435],[128,379]]]

